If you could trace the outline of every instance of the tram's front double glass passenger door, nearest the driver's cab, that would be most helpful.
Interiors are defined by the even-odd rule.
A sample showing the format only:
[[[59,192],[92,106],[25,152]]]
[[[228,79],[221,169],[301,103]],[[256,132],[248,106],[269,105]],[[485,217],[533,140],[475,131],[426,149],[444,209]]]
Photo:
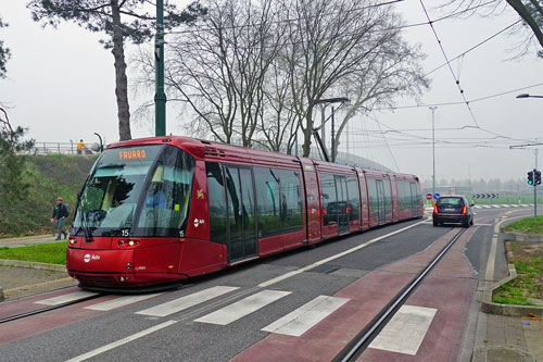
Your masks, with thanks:
[[[225,166],[228,204],[228,262],[256,257],[254,187],[251,168]]]

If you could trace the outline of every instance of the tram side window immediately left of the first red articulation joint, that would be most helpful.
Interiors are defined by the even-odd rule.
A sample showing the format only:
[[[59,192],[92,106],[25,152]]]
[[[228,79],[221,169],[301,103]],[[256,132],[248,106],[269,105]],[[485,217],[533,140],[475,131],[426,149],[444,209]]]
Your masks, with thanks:
[[[303,228],[302,187],[300,172],[277,170],[281,190],[281,222],[283,232]]]

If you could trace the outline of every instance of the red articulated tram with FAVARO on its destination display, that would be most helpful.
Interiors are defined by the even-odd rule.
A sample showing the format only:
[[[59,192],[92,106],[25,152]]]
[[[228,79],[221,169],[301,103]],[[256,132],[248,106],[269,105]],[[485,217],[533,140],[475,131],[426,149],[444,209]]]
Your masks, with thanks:
[[[110,145],[83,188],[68,274],[87,287],[181,280],[421,217],[413,175],[186,137]]]

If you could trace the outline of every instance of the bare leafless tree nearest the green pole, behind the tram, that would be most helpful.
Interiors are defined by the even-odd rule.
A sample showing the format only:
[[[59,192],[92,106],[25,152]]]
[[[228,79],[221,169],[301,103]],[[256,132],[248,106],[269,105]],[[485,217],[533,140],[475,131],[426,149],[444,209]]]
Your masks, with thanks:
[[[167,86],[220,141],[251,147],[266,72],[280,49],[273,1],[215,0],[189,34],[168,40]]]

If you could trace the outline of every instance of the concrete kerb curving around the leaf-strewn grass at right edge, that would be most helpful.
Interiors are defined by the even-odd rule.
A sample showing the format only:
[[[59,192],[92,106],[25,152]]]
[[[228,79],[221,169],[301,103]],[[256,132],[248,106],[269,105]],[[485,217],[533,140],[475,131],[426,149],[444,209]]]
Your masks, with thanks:
[[[526,316],[529,313],[543,316],[543,307],[502,304],[492,301],[492,298],[494,297],[494,294],[497,290],[497,288],[517,277],[517,270],[515,269],[515,265],[508,264],[508,266],[509,266],[509,276],[503,278],[497,283],[494,283],[483,291],[481,311],[489,314],[509,315],[509,316]]]

